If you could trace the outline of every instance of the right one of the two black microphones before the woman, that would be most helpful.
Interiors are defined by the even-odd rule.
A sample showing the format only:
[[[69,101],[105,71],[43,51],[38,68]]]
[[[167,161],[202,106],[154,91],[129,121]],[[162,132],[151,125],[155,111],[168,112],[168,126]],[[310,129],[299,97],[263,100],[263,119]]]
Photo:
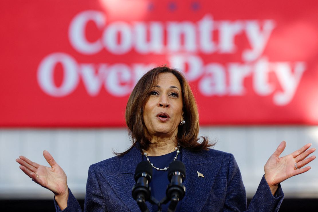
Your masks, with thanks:
[[[185,186],[182,184],[185,179],[185,166],[183,162],[173,161],[170,163],[168,179],[170,184],[166,190],[166,195],[171,201],[168,211],[175,211],[178,201],[182,200],[185,194]]]

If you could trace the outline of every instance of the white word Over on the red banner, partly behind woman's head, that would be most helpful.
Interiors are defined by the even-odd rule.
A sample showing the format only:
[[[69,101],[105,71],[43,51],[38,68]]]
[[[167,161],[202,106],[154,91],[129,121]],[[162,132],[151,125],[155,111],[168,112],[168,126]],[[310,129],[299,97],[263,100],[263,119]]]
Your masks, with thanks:
[[[54,82],[54,68],[58,63],[63,66],[62,85],[57,87]],[[113,96],[128,95],[140,77],[155,64],[132,64],[132,68],[123,63],[78,64],[74,58],[65,53],[52,53],[45,57],[38,67],[38,84],[48,95],[63,97],[72,93],[83,80],[87,93],[96,96],[102,85]]]

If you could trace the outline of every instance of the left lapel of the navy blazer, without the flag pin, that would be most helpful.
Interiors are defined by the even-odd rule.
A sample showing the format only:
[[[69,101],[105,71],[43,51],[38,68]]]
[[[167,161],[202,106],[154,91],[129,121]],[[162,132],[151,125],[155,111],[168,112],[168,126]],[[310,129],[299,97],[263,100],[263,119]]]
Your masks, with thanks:
[[[121,199],[124,205],[130,211],[140,211],[136,201],[131,195],[133,186],[135,185],[135,169],[142,161],[142,154],[138,143],[127,154],[120,157],[120,167],[117,172],[103,173],[104,178],[114,190],[115,194]],[[152,205],[146,202],[150,212],[153,212]]]

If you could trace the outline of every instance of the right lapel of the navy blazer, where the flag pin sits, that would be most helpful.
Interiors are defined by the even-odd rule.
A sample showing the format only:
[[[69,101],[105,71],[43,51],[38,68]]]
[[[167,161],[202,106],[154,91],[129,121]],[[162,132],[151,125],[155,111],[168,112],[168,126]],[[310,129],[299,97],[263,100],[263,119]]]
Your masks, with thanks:
[[[181,211],[201,211],[221,165],[214,161],[207,161],[200,152],[190,152],[187,149],[182,150],[182,161],[186,170],[184,180],[186,192],[182,200]],[[198,177],[197,172],[203,174],[204,178]]]

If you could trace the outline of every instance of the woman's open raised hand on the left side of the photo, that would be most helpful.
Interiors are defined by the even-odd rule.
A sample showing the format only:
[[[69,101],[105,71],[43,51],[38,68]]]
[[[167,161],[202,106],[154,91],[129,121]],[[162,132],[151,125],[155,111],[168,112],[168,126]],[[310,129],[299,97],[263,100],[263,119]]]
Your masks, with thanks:
[[[66,174],[48,151],[44,150],[43,156],[51,167],[39,165],[24,156],[20,156],[16,161],[21,165],[19,168],[34,182],[54,193],[61,209],[66,208],[68,198]]]

